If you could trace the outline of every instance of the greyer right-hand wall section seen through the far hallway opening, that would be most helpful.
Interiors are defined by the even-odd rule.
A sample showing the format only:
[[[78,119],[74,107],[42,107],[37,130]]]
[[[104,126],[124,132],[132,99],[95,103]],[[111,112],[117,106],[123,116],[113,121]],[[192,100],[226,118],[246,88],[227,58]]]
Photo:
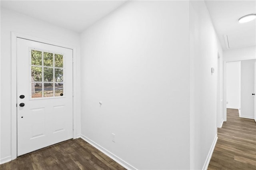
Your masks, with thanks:
[[[241,115],[254,119],[254,63],[255,59],[241,61]]]

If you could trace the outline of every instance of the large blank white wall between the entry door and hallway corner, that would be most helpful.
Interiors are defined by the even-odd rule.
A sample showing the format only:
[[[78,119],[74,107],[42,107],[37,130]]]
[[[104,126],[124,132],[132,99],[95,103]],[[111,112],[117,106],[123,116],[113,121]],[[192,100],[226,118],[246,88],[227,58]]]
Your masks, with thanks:
[[[189,169],[189,2],[127,2],[81,40],[82,135],[138,169]]]

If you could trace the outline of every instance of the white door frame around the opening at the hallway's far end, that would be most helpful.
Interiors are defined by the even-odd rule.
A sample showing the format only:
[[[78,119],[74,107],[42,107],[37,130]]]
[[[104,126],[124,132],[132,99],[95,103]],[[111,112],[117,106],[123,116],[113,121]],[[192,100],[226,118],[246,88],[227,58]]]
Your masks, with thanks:
[[[223,107],[224,107],[224,121],[227,121],[227,63],[233,61],[244,61],[256,58],[244,58],[244,59],[228,59],[223,61]]]

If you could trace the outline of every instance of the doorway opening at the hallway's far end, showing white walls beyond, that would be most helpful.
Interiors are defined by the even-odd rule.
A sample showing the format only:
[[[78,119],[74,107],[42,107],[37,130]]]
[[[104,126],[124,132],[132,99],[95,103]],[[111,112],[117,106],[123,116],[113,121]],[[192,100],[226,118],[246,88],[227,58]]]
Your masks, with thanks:
[[[255,119],[255,61],[247,59],[225,62],[226,109],[238,109],[239,116]]]

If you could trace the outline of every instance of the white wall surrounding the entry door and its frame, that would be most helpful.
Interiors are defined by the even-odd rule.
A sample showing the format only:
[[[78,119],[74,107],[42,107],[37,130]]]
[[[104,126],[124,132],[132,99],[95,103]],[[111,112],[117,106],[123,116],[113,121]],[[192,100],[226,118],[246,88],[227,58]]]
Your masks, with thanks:
[[[11,31],[76,47],[75,60],[80,63],[80,35],[46,22],[1,8],[1,146],[0,160],[11,156]],[[4,42],[4,43],[3,43]],[[76,64],[76,63],[75,63]],[[75,66],[75,90],[80,89],[80,65]],[[80,99],[80,93],[74,94]],[[80,103],[77,127],[80,134]]]

